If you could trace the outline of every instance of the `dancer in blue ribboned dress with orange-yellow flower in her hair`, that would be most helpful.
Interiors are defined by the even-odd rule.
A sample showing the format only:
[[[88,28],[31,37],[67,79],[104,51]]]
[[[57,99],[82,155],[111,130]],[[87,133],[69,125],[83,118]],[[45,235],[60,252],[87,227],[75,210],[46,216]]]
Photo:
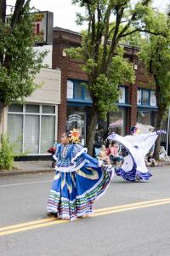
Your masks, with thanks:
[[[111,165],[88,155],[77,137],[76,130],[62,134],[47,207],[49,214],[71,220],[93,213],[94,201],[104,194],[114,172]]]

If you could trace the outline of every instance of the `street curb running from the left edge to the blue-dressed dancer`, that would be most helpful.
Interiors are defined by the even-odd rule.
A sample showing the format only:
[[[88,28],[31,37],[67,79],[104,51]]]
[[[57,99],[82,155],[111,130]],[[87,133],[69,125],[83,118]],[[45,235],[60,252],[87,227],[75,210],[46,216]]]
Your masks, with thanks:
[[[19,174],[36,174],[36,173],[48,173],[48,172],[55,172],[54,169],[48,169],[48,170],[32,170],[32,171],[24,171],[24,170],[18,170],[18,171],[1,171],[0,177],[3,176],[13,176],[13,175],[19,175]]]

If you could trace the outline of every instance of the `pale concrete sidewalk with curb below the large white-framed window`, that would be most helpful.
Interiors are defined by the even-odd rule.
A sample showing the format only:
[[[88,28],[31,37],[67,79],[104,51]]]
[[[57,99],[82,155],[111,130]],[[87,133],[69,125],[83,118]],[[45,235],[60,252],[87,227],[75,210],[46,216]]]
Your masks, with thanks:
[[[0,176],[54,171],[52,161],[16,161],[13,170],[0,170]]]

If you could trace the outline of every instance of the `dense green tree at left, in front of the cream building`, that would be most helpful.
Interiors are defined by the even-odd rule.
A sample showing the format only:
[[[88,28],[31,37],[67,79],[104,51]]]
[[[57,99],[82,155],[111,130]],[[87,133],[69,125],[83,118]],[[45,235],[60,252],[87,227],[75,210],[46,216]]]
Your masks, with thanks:
[[[6,22],[6,0],[0,0],[0,124],[2,110],[12,102],[22,102],[37,89],[35,75],[42,67],[46,51],[34,49],[30,0],[16,0]]]

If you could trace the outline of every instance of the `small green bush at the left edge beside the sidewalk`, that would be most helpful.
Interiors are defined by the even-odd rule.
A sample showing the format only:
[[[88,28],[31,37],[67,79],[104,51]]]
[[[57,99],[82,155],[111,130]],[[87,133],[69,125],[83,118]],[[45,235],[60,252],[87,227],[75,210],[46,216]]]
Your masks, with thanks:
[[[14,145],[9,143],[8,136],[3,134],[0,143],[0,169],[12,169],[14,166]]]

